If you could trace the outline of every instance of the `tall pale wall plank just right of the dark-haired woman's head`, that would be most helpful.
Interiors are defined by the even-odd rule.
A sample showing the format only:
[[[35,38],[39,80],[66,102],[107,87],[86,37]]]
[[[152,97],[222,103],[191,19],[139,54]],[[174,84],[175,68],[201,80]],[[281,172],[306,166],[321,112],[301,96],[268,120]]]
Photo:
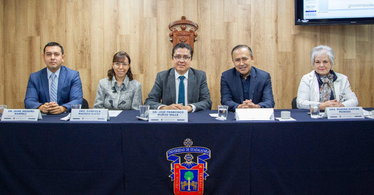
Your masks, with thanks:
[[[129,55],[131,57],[131,63],[136,64],[134,66],[134,69],[132,71],[135,72],[135,74],[143,74],[144,72],[144,60],[143,56],[146,53],[144,51],[144,42],[148,41],[144,39],[144,19],[143,19],[143,3],[142,1],[137,0],[131,0],[130,2],[130,51]],[[149,34],[151,38],[151,34]]]

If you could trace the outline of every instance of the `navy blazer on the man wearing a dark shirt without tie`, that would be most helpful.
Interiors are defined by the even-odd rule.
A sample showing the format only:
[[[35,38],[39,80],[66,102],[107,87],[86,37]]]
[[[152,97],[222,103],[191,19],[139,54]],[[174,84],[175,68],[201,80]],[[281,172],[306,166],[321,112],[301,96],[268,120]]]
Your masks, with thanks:
[[[221,104],[229,106],[229,110],[233,112],[245,100],[239,75],[239,72],[232,68],[224,71],[221,76]],[[270,74],[252,66],[249,81],[249,99],[263,108],[274,108]]]

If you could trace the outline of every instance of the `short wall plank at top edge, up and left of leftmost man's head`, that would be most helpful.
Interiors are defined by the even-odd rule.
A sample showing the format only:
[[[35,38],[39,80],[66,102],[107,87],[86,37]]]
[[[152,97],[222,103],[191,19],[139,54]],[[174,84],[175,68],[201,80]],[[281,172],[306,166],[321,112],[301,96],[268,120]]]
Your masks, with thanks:
[[[27,7],[27,35],[39,36],[40,0],[27,0]]]

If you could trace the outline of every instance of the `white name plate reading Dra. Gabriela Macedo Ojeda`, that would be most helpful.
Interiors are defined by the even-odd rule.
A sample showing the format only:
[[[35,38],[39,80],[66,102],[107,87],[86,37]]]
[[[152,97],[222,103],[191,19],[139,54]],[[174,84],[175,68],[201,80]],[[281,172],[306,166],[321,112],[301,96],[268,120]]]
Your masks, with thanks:
[[[108,109],[71,109],[70,121],[107,121]]]

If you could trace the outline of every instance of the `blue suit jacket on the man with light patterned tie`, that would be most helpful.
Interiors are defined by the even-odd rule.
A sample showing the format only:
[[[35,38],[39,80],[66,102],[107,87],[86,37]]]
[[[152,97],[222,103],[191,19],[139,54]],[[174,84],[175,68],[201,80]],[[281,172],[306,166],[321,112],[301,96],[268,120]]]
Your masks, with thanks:
[[[71,104],[82,104],[83,91],[79,72],[61,66],[58,76],[57,103],[70,112]],[[40,105],[50,102],[47,68],[30,74],[28,79],[25,108],[36,109]]]

